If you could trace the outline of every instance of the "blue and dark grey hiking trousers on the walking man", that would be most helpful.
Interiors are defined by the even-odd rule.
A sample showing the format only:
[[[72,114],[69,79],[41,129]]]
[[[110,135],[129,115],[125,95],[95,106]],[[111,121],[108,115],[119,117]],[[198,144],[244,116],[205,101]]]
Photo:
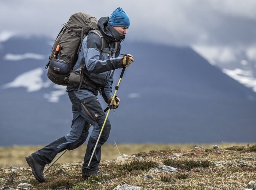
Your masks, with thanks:
[[[79,93],[74,90],[69,91],[68,96],[72,103],[73,113],[71,131],[67,135],[60,137],[46,145],[44,148],[34,152],[32,156],[42,166],[45,166],[47,163],[51,163],[59,152],[62,152],[65,149],[73,150],[82,145],[88,137],[88,130],[91,124],[93,126],[93,130],[88,140],[84,163],[82,166],[82,172],[86,173],[88,172],[86,167],[90,161],[91,153],[93,152],[106,115],[97,99],[97,96],[89,90],[80,90]],[[90,163],[91,170],[99,169],[98,165],[101,161],[101,146],[108,140],[110,129],[111,124],[109,119],[107,119]]]

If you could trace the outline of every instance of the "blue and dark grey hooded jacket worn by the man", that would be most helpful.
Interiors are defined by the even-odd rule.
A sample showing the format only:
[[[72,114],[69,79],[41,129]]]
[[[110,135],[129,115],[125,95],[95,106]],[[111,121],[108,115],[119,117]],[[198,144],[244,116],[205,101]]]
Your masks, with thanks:
[[[79,71],[79,65],[84,64],[83,75],[98,87],[101,87],[102,97],[105,101],[112,97],[112,83],[114,70],[117,68],[123,68],[121,63],[120,42],[125,36],[120,35],[109,23],[109,17],[102,17],[98,21],[98,27],[104,36],[105,47],[104,50],[110,50],[112,53],[101,52],[101,37],[96,33],[89,33],[82,41],[81,50],[79,52],[78,60],[75,63],[74,68]],[[118,42],[118,43],[115,43]],[[117,44],[117,47],[115,47]],[[114,53],[114,50],[115,53]],[[67,91],[75,90],[78,85],[68,84]],[[92,89],[86,84],[82,84],[81,90],[92,90],[96,93],[95,89]]]

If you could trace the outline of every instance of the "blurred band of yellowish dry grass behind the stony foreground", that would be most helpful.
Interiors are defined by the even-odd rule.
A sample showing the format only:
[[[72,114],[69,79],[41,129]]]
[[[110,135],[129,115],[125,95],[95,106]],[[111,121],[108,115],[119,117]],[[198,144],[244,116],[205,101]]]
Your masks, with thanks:
[[[215,143],[216,144],[216,143]],[[222,143],[217,143],[224,147]],[[101,151],[101,160],[116,159],[120,154],[132,155],[138,152],[149,152],[152,150],[189,150],[195,145],[200,145],[204,148],[213,148],[214,144],[104,144]],[[242,146],[245,143],[225,143],[225,147]],[[0,147],[0,168],[3,167],[24,167],[27,166],[25,157],[37,151],[43,146],[12,146]],[[67,151],[56,163],[74,163],[82,161],[84,158],[86,145],[79,148]],[[119,150],[119,151],[118,151]]]

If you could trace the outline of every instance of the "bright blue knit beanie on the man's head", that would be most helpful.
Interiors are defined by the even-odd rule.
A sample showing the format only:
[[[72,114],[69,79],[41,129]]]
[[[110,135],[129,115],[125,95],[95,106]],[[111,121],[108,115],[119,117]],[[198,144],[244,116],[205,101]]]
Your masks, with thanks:
[[[130,18],[121,7],[118,7],[110,15],[109,24],[111,26],[123,26],[123,27],[129,28]]]

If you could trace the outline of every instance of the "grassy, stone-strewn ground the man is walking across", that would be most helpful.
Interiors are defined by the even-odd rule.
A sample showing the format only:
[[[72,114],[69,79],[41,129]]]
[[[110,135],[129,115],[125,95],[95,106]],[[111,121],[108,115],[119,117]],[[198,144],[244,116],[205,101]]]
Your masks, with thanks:
[[[101,161],[100,169],[103,175],[89,177],[87,180],[81,177],[85,150],[85,147],[81,147],[82,151],[79,153],[65,153],[60,162],[55,163],[45,173],[44,183],[35,179],[26,164],[16,163],[18,166],[15,168],[6,164],[9,163],[11,155],[21,160],[23,158],[18,155],[27,156],[39,147],[5,147],[1,148],[7,156],[4,164],[2,163],[5,166],[0,167],[0,189],[7,186],[16,188],[23,182],[33,185],[35,190],[51,190],[58,187],[73,190],[111,190],[122,183],[140,186],[143,190],[235,190],[247,188],[250,181],[255,181],[256,145],[231,144],[222,145],[218,149],[213,149],[212,145],[202,144],[200,146],[203,148],[194,148],[195,145],[192,144],[185,144],[183,147],[174,144],[161,144],[159,147],[158,144],[117,144],[120,153],[130,156],[116,159],[119,151],[115,145],[107,144],[104,145],[102,153],[108,152],[108,155],[112,156],[107,159],[108,155],[104,155],[105,159]],[[0,155],[3,156],[2,150]],[[63,162],[66,157],[71,161]],[[162,165],[176,167],[177,172],[150,170]],[[145,175],[152,176],[152,179],[145,180]]]

